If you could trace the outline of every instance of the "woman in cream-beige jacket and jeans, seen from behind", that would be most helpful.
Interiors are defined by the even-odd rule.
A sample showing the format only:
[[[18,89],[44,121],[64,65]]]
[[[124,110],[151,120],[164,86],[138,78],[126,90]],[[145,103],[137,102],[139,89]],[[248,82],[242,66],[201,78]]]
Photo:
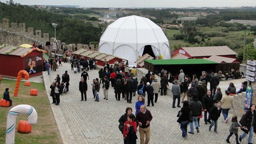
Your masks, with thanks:
[[[227,123],[228,121],[228,111],[230,108],[233,107],[234,102],[233,102],[233,97],[230,95],[230,92],[228,90],[225,91],[226,95],[223,95],[221,98],[221,107],[222,107],[222,115],[224,117],[225,122]]]

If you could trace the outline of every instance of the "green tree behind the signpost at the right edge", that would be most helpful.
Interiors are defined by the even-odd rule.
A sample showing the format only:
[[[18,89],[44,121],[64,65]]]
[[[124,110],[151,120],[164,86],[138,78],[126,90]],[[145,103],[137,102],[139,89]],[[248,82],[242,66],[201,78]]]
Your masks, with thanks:
[[[243,46],[238,50],[237,59],[243,61]],[[245,47],[245,60],[256,60],[256,49],[254,49],[253,43],[246,45]]]

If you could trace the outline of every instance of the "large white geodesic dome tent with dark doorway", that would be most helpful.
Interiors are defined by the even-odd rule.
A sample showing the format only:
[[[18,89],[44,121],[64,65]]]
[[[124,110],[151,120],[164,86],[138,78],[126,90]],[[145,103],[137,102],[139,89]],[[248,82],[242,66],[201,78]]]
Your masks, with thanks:
[[[98,51],[127,59],[129,66],[136,66],[138,56],[145,53],[171,59],[169,42],[162,29],[141,16],[121,17],[110,24],[101,36]]]

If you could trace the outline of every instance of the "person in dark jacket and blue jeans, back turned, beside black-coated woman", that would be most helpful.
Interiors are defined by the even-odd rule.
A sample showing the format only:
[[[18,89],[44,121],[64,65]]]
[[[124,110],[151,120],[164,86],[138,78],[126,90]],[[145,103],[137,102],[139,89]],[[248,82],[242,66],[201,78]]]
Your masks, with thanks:
[[[197,117],[202,113],[202,103],[198,101],[197,95],[193,95],[192,101],[189,102],[189,107],[191,108],[191,115],[193,117],[193,121],[195,123],[197,133],[199,133],[199,125],[197,121]],[[190,134],[194,134],[193,122],[190,122]]]

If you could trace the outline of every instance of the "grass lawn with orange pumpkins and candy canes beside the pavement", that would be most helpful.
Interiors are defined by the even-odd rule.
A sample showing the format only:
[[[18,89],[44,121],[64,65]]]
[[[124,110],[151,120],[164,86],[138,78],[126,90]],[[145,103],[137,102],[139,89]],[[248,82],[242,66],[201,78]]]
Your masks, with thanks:
[[[32,125],[32,132],[23,134],[17,132],[20,120],[28,119],[27,115],[20,114],[16,119],[15,143],[16,144],[62,144],[62,139],[57,128],[53,112],[46,95],[43,83],[31,82],[31,86],[24,86],[24,82],[20,81],[18,96],[14,97],[13,92],[16,80],[2,79],[0,84],[0,98],[3,98],[5,88],[10,88],[10,98],[13,100],[13,106],[26,104],[36,109],[38,120],[36,125]],[[38,90],[37,96],[30,95],[30,89]],[[0,107],[0,144],[5,143],[7,114],[10,107]]]

